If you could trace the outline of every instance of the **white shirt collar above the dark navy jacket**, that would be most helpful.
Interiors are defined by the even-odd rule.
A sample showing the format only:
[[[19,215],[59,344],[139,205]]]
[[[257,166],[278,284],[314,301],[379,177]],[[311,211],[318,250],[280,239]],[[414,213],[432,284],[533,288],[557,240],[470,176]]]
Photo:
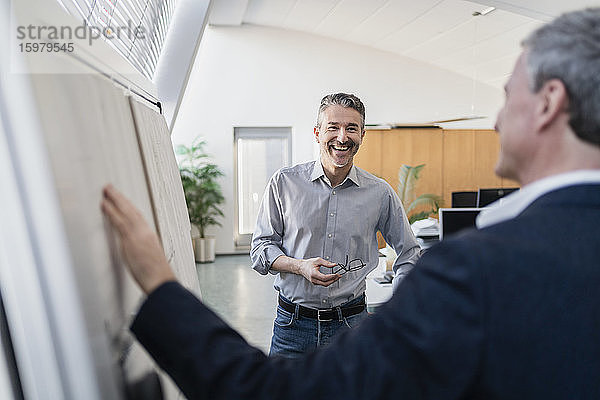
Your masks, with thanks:
[[[548,192],[586,183],[600,183],[600,170],[566,172],[532,182],[483,209],[477,216],[477,228],[485,228],[515,218],[531,203]]]

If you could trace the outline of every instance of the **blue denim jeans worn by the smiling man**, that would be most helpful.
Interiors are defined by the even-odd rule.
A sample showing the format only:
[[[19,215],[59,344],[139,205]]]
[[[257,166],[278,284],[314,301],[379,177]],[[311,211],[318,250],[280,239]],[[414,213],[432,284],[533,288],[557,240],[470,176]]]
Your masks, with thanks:
[[[293,304],[282,296],[280,298]],[[364,301],[364,296],[353,299],[343,306],[358,304],[361,300]],[[299,357],[319,346],[331,343],[337,334],[355,328],[367,315],[365,308],[363,312],[342,318],[341,321],[318,321],[299,316],[297,307],[295,313],[289,313],[277,305],[269,355]]]

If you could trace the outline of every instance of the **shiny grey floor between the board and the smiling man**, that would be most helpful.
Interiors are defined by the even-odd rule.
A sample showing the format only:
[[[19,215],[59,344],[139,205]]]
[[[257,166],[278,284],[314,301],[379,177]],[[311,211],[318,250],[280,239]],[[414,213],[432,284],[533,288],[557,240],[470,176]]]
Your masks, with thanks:
[[[217,256],[196,269],[204,303],[268,354],[277,307],[275,275],[254,271],[248,255]]]

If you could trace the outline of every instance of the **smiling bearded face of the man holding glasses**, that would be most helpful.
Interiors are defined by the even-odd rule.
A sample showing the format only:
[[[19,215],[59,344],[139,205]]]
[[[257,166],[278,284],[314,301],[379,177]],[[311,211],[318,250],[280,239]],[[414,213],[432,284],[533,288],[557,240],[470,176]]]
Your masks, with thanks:
[[[337,174],[350,170],[365,134],[361,126],[361,116],[353,108],[335,104],[323,111],[321,123],[315,127],[315,137],[325,171]]]

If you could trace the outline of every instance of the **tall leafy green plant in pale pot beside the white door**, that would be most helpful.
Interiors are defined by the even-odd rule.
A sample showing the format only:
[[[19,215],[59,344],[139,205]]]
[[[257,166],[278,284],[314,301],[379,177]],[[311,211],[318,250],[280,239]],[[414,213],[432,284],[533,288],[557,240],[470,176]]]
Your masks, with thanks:
[[[192,231],[197,229],[196,235],[192,232],[197,262],[215,260],[215,237],[206,235],[206,228],[221,226],[218,218],[223,216],[220,206],[225,201],[218,182],[223,172],[210,162],[205,145],[204,140],[196,138],[190,146],[179,145],[176,149]]]

